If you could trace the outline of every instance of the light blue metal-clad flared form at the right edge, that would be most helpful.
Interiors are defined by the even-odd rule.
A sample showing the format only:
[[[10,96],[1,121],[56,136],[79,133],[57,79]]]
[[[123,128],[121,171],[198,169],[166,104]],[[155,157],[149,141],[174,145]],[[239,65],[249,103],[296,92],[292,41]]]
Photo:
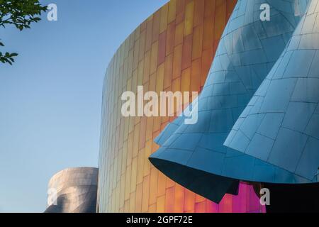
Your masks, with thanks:
[[[238,118],[225,145],[289,172],[258,181],[318,182],[319,3],[305,16],[272,71]]]

